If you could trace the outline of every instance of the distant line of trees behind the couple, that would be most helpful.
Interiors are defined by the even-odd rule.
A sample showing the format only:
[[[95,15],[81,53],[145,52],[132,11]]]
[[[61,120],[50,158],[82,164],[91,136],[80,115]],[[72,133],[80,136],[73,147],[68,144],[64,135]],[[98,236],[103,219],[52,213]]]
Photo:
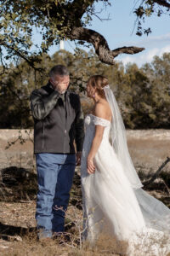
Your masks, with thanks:
[[[82,98],[82,108],[87,113],[92,106],[84,89],[88,78],[94,74],[106,76],[115,93],[127,128],[169,128],[170,127],[170,54],[155,56],[143,67],[129,63],[123,66],[116,62],[108,66],[90,50],[76,50],[71,54],[65,50],[54,55],[42,54],[37,68],[26,61],[18,65],[10,63],[3,73],[0,67],[0,128],[31,128],[31,91],[48,82],[51,67],[64,64],[71,72],[71,90]]]

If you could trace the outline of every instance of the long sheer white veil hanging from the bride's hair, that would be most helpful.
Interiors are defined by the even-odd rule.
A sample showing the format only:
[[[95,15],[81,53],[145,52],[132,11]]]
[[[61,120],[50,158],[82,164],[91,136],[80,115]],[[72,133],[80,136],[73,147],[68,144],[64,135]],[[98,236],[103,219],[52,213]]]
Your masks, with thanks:
[[[130,157],[127,148],[126,130],[123,124],[122,115],[116,103],[116,98],[109,85],[104,87],[105,97],[110,104],[112,112],[111,120],[111,141],[112,146],[116,151],[116,155],[122,163],[124,172],[131,183],[133,189],[139,189],[143,185],[140,182],[139,176],[133,166],[133,161]]]

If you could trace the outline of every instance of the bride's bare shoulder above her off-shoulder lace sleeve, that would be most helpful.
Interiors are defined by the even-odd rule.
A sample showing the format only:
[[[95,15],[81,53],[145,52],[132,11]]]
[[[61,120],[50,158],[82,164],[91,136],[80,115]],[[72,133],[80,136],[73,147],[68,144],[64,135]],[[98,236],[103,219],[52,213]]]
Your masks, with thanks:
[[[94,114],[100,118],[111,120],[111,108],[107,101],[102,100],[96,103]]]

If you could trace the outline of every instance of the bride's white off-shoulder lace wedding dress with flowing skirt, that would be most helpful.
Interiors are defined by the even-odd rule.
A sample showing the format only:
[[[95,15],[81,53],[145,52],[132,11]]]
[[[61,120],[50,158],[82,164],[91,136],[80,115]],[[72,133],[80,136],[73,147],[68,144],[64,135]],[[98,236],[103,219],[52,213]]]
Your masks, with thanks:
[[[105,126],[94,157],[95,172],[88,174],[87,157],[95,125]],[[82,149],[83,237],[93,242],[104,232],[128,242],[128,255],[170,253],[170,210],[144,189],[133,189],[110,143],[111,122],[88,114]]]

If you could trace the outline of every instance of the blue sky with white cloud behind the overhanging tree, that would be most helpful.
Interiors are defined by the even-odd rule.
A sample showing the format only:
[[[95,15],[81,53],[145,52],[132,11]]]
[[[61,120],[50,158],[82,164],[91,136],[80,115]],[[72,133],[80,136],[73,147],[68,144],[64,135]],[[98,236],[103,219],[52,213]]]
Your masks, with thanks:
[[[153,60],[154,55],[161,56],[164,52],[170,52],[170,15],[162,15],[160,18],[152,15],[145,20],[145,26],[151,27],[152,33],[149,36],[143,35],[139,37],[136,35],[135,15],[133,9],[135,0],[116,0],[111,1],[111,7],[106,9],[103,3],[96,3],[96,11],[99,12],[100,18],[110,20],[99,20],[95,17],[88,28],[101,33],[107,40],[110,49],[116,49],[122,46],[138,46],[144,47],[144,51],[136,55],[118,55],[116,61],[122,61],[124,64],[128,62],[137,63],[141,67],[145,62]],[[136,5],[138,6],[138,5]],[[101,9],[103,9],[102,12]],[[74,52],[76,44],[70,41],[65,41],[65,50]],[[93,49],[93,46],[91,47]],[[49,50],[49,54],[53,55],[58,46],[53,46]],[[89,50],[85,48],[85,50]]]

